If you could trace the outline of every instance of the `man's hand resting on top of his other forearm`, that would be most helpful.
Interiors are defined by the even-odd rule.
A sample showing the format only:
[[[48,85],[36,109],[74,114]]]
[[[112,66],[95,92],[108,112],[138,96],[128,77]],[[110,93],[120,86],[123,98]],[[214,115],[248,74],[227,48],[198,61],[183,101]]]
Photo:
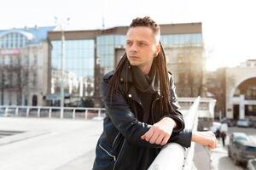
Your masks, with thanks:
[[[164,145],[170,138],[172,129],[176,126],[176,122],[172,118],[164,117],[160,122],[154,123],[141,139],[147,140],[150,144]]]

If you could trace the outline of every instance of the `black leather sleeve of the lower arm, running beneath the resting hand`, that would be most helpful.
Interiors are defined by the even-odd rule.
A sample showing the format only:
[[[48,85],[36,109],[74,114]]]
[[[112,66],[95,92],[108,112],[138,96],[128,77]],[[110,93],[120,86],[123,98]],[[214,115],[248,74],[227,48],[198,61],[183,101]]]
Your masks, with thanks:
[[[139,122],[136,116],[132,113],[129,105],[125,101],[125,94],[122,90],[117,90],[113,93],[112,98],[108,95],[108,82],[102,82],[102,93],[107,114],[113,122],[113,125],[131,144],[137,144],[144,147],[161,148],[160,144],[150,144],[146,140],[141,139],[144,133],[148,132],[151,125],[144,122]],[[177,142],[187,147],[188,144],[183,144],[181,138],[177,136],[179,133],[173,134],[176,138],[170,142]],[[188,134],[185,134],[188,136]],[[184,136],[185,136],[184,135]]]

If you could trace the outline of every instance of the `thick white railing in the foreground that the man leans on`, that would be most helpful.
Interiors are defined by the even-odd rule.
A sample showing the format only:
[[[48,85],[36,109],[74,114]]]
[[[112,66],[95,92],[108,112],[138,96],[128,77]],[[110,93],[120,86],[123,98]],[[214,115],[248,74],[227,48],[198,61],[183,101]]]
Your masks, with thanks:
[[[199,104],[200,97],[194,99],[193,105],[189,108],[189,113],[183,117],[186,128],[192,129],[192,131],[197,129],[197,110]],[[159,155],[156,156],[148,170],[191,170],[195,167],[193,163],[194,152],[194,143],[191,143],[189,149],[184,149],[180,144],[176,143],[166,144]]]

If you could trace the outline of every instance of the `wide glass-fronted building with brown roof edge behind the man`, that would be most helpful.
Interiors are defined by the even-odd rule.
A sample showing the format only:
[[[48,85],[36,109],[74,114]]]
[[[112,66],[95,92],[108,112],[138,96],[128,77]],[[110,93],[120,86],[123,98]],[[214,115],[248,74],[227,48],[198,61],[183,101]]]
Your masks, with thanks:
[[[203,94],[205,60],[201,23],[160,25],[160,28],[160,41],[166,51],[168,68],[177,83],[178,96],[195,97]],[[64,31],[65,71],[73,72],[77,80],[82,81],[71,96],[92,95],[99,104],[96,106],[100,106],[102,76],[112,71],[125,54],[125,34],[128,29],[128,26],[119,26],[106,30]],[[49,52],[51,67],[60,71],[61,31],[49,31],[48,37],[52,46]],[[52,80],[52,86],[53,83],[55,87],[61,86],[60,81]],[[68,81],[65,87],[68,87]],[[60,92],[59,88],[51,89],[52,94]],[[66,93],[70,93],[68,89],[65,88]]]

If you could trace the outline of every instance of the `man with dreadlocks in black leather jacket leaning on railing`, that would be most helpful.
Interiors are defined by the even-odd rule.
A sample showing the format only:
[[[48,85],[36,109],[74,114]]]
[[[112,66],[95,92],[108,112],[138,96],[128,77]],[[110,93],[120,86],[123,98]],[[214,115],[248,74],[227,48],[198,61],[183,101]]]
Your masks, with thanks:
[[[192,139],[214,148],[213,133],[183,131],[160,26],[149,17],[132,20],[125,52],[116,70],[103,77],[107,113],[93,169],[147,169],[170,142],[189,147]]]

